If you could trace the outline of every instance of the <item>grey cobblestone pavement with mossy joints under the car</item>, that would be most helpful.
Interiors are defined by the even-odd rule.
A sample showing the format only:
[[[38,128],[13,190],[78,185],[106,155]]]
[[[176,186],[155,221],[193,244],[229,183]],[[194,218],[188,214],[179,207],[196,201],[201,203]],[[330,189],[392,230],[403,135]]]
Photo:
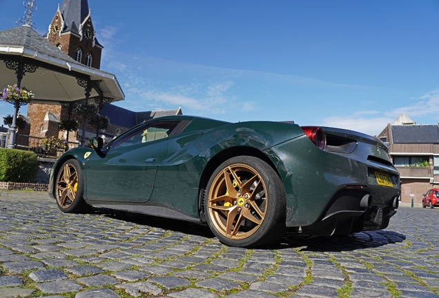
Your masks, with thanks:
[[[386,230],[221,244],[205,226],[0,190],[0,297],[437,297],[439,209]]]

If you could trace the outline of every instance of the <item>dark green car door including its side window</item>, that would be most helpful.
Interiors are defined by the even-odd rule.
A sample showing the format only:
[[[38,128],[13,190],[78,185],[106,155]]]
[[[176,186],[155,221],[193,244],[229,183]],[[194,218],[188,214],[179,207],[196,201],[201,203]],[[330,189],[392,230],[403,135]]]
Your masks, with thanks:
[[[146,202],[155,174],[166,156],[167,138],[176,121],[146,123],[110,143],[105,156],[91,155],[86,163],[86,199]]]

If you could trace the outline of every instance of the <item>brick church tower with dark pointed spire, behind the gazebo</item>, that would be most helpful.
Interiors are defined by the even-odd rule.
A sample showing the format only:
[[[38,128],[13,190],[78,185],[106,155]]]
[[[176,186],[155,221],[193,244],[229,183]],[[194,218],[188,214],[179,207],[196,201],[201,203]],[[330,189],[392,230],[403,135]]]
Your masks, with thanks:
[[[87,0],[64,0],[62,6],[58,5],[55,17],[44,37],[79,63],[100,68],[101,52],[104,47],[96,39]],[[60,139],[66,139],[66,132],[58,132],[57,127],[60,119],[68,118],[68,110],[68,105],[30,103],[29,135],[32,137],[56,135]],[[70,133],[68,141],[77,141],[76,135]]]

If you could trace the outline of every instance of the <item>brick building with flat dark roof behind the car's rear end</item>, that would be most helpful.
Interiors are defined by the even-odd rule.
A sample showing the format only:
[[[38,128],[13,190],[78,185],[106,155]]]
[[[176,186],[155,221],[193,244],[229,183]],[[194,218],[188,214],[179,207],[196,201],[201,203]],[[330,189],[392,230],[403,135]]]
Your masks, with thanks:
[[[421,203],[422,195],[439,184],[438,124],[416,124],[402,114],[378,138],[389,147],[400,172],[401,201]]]

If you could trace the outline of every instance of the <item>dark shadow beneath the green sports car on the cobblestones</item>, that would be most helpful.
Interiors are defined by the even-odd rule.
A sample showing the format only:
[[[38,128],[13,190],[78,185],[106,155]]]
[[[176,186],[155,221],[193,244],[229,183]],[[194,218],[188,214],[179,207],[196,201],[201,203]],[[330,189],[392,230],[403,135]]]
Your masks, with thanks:
[[[113,210],[109,208],[93,207],[90,214],[103,215],[121,221],[150,226],[152,228],[161,228],[163,230],[173,230],[184,234],[197,235],[208,239],[215,238],[207,225],[195,224],[178,219],[168,219],[164,217],[155,217],[151,215],[142,215],[134,212]],[[308,236],[300,235],[293,232],[287,232],[284,237],[277,243],[263,247],[269,250],[282,250],[288,248],[300,248],[306,251],[318,252],[342,252],[349,250],[358,250],[364,248],[376,248],[388,244],[396,244],[404,241],[405,235],[391,230],[364,231],[353,233],[351,235],[338,236]]]

